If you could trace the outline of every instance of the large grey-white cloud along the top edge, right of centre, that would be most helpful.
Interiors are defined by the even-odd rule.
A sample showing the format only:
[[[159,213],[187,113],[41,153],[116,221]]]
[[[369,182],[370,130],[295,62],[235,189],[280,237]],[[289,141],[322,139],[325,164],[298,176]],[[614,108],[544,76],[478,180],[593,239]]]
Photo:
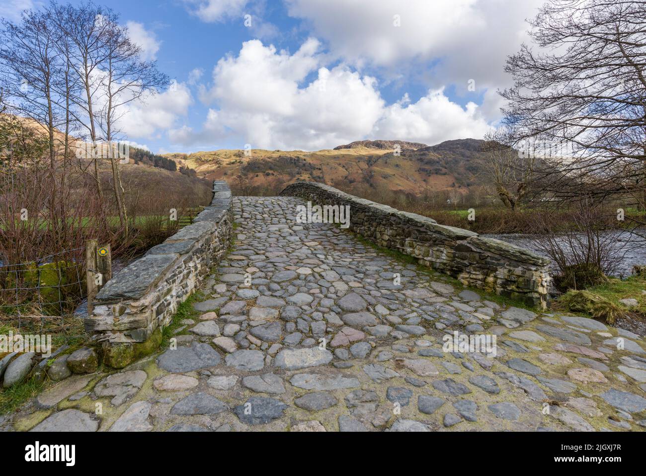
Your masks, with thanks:
[[[526,41],[526,18],[544,0],[285,0],[332,55],[388,80],[455,85],[468,94],[510,85],[506,57]],[[399,26],[395,26],[399,25]],[[497,107],[486,107],[492,120]]]

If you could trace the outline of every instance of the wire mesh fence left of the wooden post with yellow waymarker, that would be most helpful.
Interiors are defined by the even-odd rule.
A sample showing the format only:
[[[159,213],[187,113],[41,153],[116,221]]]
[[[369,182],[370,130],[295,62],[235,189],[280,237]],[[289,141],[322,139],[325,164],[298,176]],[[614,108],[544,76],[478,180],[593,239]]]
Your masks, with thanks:
[[[76,327],[74,311],[85,299],[83,248],[27,263],[0,263],[0,320],[36,332]]]

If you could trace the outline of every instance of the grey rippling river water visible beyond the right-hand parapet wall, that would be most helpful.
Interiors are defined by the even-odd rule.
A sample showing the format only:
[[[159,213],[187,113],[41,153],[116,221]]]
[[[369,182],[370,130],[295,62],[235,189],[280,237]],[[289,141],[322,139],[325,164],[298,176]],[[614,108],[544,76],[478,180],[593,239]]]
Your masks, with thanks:
[[[614,274],[616,277],[630,276],[632,266],[634,265],[646,265],[646,239],[643,236],[625,231],[609,231],[606,233],[614,249],[620,255],[623,254],[623,258],[618,263],[617,272]],[[639,230],[639,233],[640,235],[646,235],[646,230]],[[520,248],[545,256],[545,253],[541,251],[539,244],[536,242],[536,235],[508,234],[481,236],[506,241],[506,243],[515,244]]]

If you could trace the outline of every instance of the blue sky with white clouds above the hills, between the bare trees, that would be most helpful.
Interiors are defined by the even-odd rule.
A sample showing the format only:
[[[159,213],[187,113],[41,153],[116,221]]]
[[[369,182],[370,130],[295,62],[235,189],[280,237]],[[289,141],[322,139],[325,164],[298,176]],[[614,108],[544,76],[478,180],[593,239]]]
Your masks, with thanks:
[[[73,2],[74,3],[74,2]],[[539,0],[109,0],[176,81],[131,105],[154,152],[437,144],[495,127]],[[37,8],[8,0],[0,14]],[[251,25],[249,25],[249,21]],[[470,87],[471,86],[471,87]]]

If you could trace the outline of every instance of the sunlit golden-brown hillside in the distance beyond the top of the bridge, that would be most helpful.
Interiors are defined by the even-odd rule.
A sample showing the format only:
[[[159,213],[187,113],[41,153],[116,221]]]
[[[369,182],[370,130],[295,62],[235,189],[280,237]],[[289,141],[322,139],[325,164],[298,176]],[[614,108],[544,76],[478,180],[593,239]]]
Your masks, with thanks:
[[[394,155],[394,144],[401,154]],[[229,180],[254,193],[276,190],[297,180],[339,188],[367,186],[422,195],[429,191],[467,193],[479,184],[482,140],[451,140],[426,146],[403,141],[357,141],[315,152],[222,149],[164,157],[195,169],[200,177]]]

